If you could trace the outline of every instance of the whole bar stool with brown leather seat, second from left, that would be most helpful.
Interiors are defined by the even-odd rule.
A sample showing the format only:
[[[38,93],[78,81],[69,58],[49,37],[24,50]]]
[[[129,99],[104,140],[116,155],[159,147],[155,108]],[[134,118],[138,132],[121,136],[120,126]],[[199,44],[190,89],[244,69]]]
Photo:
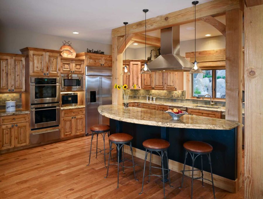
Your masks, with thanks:
[[[110,141],[110,151],[112,150],[112,143],[114,143],[116,145],[116,148],[117,148],[117,164],[110,164],[110,157],[109,157],[109,162],[108,162],[108,168],[107,168],[107,175],[104,177],[104,178],[107,178],[108,177],[108,172],[109,172],[109,166],[110,165],[118,165],[118,181],[117,181],[117,188],[119,188],[119,158],[120,158],[120,148],[122,147],[123,148],[123,152],[122,152],[122,172],[124,172],[124,160],[128,160],[130,162],[132,162],[132,166],[133,167],[133,173],[134,173],[134,179],[136,181],[138,181],[136,179],[136,176],[135,176],[135,169],[134,169],[134,161],[133,161],[133,154],[132,154],[132,147],[131,147],[131,141],[132,141],[133,137],[129,134],[126,134],[126,133],[115,133],[115,134],[112,134],[110,135],[109,137],[109,141]],[[128,144],[130,145],[130,149],[131,149],[131,158],[132,158],[132,161],[125,158],[124,159],[124,144]],[[125,167],[125,168],[131,168],[131,167]]]

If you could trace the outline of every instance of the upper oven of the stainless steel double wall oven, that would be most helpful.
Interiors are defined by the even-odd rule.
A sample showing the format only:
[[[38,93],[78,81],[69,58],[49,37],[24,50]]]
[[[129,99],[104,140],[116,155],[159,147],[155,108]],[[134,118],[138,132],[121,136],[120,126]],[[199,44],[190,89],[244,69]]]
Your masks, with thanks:
[[[31,104],[51,103],[60,101],[60,78],[37,78],[30,79]]]

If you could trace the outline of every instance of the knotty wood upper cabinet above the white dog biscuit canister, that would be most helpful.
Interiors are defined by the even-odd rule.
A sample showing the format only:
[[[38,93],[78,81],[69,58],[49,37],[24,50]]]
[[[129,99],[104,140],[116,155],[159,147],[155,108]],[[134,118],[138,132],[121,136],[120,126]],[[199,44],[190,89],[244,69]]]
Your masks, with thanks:
[[[0,53],[0,92],[25,91],[26,55]]]

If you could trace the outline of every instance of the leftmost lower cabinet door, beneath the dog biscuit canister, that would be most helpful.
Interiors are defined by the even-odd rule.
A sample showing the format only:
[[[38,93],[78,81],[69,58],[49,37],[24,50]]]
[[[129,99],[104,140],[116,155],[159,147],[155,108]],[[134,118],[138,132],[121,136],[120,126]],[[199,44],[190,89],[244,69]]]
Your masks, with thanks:
[[[14,144],[14,124],[2,125],[0,126],[0,148],[7,149],[13,148]]]

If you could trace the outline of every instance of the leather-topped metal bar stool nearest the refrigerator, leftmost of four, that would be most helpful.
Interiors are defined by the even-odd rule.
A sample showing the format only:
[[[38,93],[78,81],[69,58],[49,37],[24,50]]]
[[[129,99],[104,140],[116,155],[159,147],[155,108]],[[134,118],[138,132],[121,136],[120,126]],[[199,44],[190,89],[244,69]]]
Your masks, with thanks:
[[[105,135],[106,133],[108,134],[108,137],[109,137],[109,132],[110,132],[110,126],[107,125],[107,124],[98,124],[98,125],[94,125],[92,127],[90,127],[90,131],[92,132],[91,134],[91,143],[90,143],[90,151],[89,151],[89,163],[90,163],[90,155],[91,153],[96,153],[96,158],[97,158],[97,155],[98,153],[101,153],[101,150],[100,148],[98,148],[98,134],[101,134],[102,137],[103,137],[103,145],[104,145],[104,153],[101,153],[104,155],[104,165],[105,165],[105,168],[106,167],[106,158],[105,158],[105,155],[108,155],[111,151],[109,151],[109,153],[105,153]],[[97,145],[96,145],[96,152],[91,152],[91,147],[92,147],[92,140],[93,140],[93,136],[97,134]],[[110,143],[110,142],[109,142]],[[100,151],[98,151],[98,149]],[[111,153],[110,153],[110,157],[111,157]],[[87,166],[89,166],[89,164],[87,164]]]

